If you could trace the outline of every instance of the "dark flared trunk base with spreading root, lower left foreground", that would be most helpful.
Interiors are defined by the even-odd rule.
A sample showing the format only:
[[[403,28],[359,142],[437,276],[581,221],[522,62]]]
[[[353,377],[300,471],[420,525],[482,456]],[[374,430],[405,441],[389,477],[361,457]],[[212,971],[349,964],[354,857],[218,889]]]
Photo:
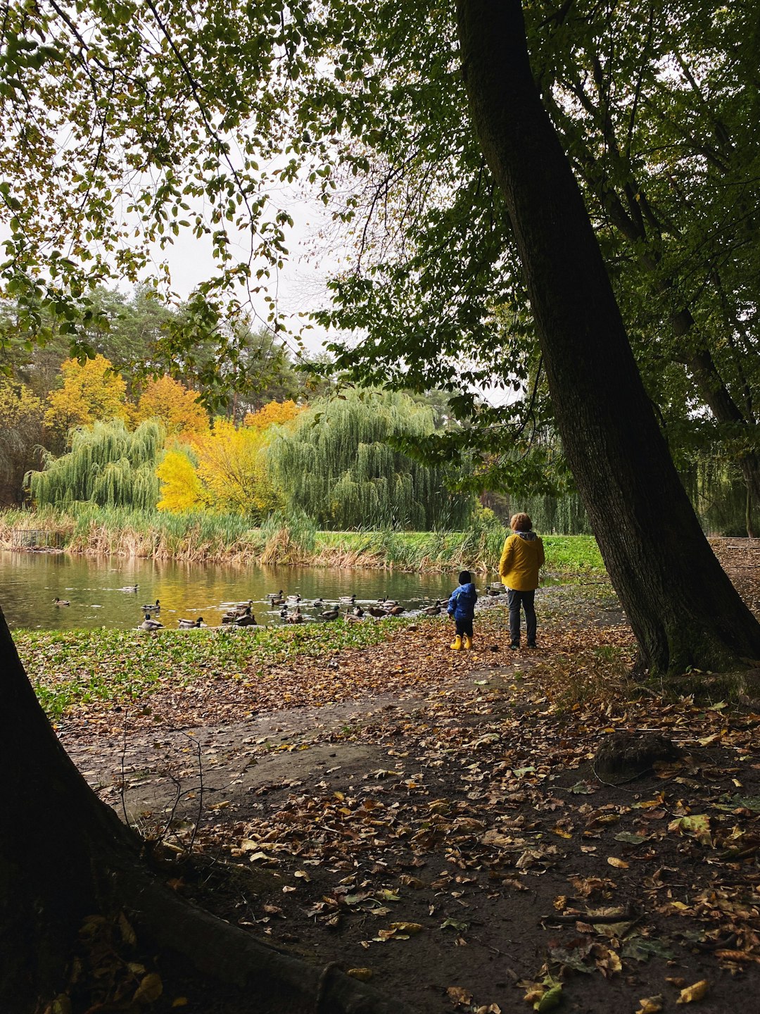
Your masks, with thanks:
[[[320,972],[164,886],[141,859],[138,837],[58,741],[1,611],[0,696],[0,1011],[43,1009],[66,983],[85,917],[123,912],[149,952],[178,954],[239,987],[241,1009],[253,997],[260,1014],[409,1014],[332,965]]]

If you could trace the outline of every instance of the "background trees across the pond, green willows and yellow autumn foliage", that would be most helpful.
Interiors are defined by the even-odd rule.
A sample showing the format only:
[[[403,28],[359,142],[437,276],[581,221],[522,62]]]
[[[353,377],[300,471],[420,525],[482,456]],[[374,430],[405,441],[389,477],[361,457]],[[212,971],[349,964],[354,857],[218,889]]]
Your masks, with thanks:
[[[131,298],[99,290],[97,303],[109,328],[93,329],[94,358],[82,361],[68,357],[64,335],[43,346],[27,343],[5,311],[0,503],[6,507],[70,511],[86,503],[236,514],[252,523],[279,512],[328,530],[420,531],[504,521],[519,507],[543,531],[590,531],[548,425],[534,438],[532,453],[544,466],[534,489],[528,479],[512,496],[504,487],[483,491],[478,464],[466,452],[454,464],[426,463],[414,452],[431,437],[461,431],[445,393],[337,393],[324,363],[315,379],[314,363],[297,365],[267,331],[246,328],[236,336],[234,382],[230,377],[210,412],[194,378],[213,359],[211,343],[200,342],[193,361],[176,363],[168,376],[157,353],[176,313],[142,288]],[[744,533],[738,469],[716,455],[684,450],[680,464],[705,528]]]

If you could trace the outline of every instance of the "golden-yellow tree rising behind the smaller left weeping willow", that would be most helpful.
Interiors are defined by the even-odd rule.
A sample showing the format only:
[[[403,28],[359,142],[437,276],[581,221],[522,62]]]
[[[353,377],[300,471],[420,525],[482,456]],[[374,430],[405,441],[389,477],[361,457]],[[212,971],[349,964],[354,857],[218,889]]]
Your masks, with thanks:
[[[84,363],[67,359],[61,364],[63,384],[48,396],[46,425],[61,435],[75,426],[110,419],[127,419],[127,385],[101,355]]]

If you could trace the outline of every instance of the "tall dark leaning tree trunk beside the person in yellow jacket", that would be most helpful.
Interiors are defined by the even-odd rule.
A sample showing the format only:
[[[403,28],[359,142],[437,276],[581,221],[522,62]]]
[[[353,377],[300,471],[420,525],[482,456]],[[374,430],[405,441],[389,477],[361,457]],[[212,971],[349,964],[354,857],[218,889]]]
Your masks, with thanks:
[[[581,192],[541,104],[520,0],[458,0],[470,114],[504,191],[562,444],[612,583],[657,672],[760,658],[636,368]]]

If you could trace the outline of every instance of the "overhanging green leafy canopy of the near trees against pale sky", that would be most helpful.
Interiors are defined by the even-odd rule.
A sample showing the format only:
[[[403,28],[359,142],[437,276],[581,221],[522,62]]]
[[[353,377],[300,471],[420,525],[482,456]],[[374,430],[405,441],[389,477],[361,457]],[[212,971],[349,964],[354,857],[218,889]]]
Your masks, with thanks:
[[[318,314],[363,336],[333,343],[338,367],[448,390],[475,425],[441,452],[469,442],[483,482],[535,484],[524,451],[551,410],[513,229],[466,115],[453,5],[75,9],[18,2],[4,24],[2,274],[23,325],[44,331],[48,314],[91,345],[107,315],[92,285],[143,277],[156,247],[205,236],[219,271],[156,354],[210,389],[244,388],[260,373],[244,304],[276,282],[289,225],[277,195],[298,182],[331,213],[328,241],[355,243]],[[671,444],[719,444],[757,499],[753,10],[657,0],[600,17],[589,0],[541,2],[526,27]],[[167,269],[154,284],[170,293]]]

